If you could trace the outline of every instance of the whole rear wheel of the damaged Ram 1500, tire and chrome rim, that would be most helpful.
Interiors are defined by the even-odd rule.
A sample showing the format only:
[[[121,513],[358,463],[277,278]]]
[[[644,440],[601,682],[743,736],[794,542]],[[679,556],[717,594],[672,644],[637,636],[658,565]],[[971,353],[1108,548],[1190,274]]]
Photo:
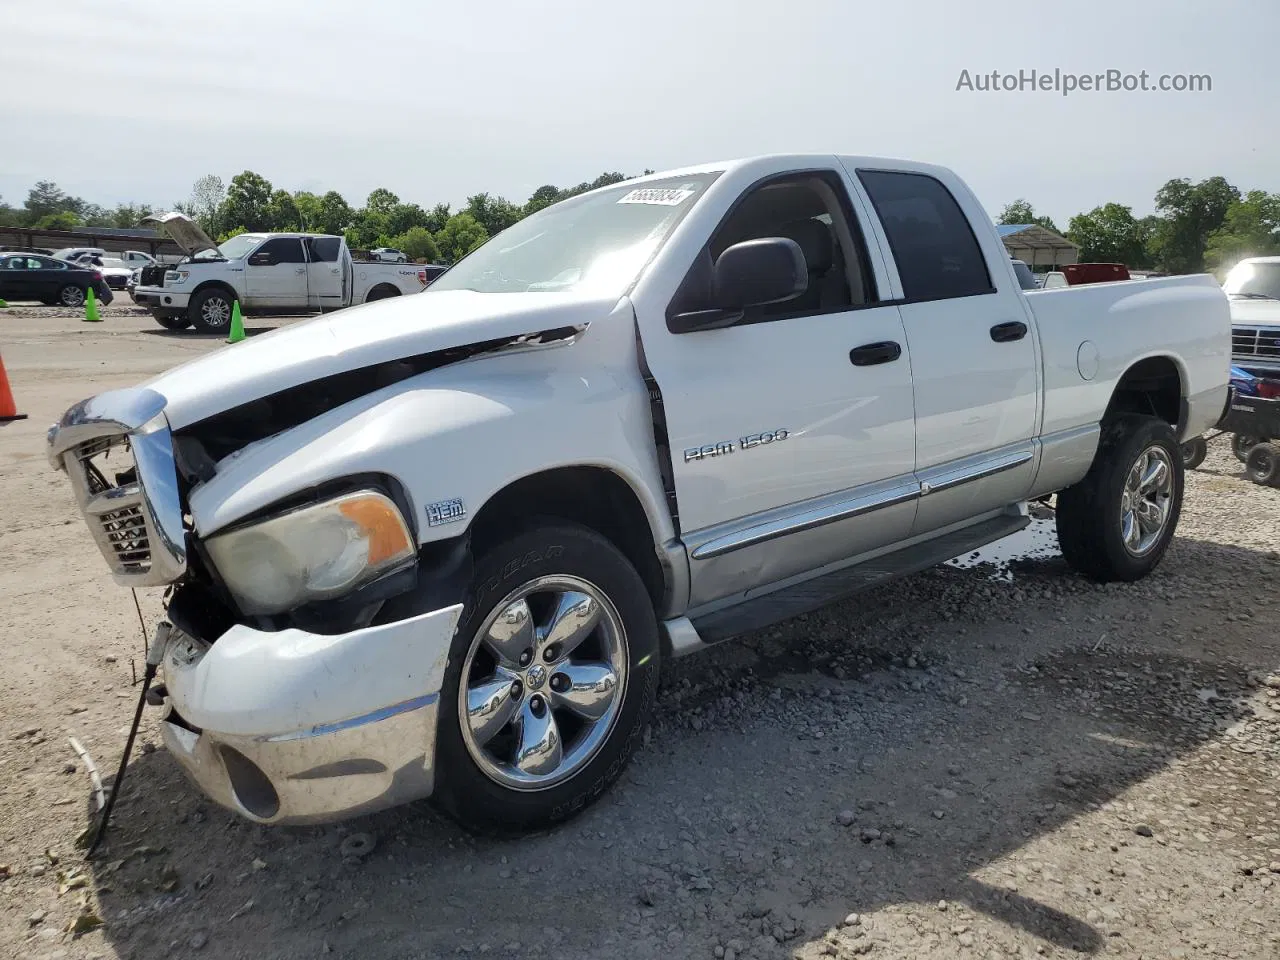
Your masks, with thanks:
[[[1151,416],[1107,422],[1084,479],[1057,495],[1062,557],[1101,581],[1134,581],[1164,558],[1183,506],[1183,454],[1172,428]]]

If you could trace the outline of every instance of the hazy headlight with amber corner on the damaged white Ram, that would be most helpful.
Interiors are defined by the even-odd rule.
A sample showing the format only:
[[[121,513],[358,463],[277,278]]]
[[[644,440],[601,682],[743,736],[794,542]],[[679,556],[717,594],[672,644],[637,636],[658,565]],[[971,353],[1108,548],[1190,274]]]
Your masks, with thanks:
[[[416,556],[404,517],[376,490],[302,507],[211,536],[205,545],[250,616],[342,596]]]

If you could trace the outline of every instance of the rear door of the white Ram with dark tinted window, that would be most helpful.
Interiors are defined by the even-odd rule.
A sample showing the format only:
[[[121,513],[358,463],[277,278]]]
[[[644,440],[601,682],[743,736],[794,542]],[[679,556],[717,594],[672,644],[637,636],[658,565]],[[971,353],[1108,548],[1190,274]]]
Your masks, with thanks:
[[[874,169],[858,180],[896,266],[922,486],[913,534],[925,534],[1029,492],[1038,346],[1011,271],[993,269],[1007,253],[993,230],[979,239],[972,220],[986,214],[963,184]]]

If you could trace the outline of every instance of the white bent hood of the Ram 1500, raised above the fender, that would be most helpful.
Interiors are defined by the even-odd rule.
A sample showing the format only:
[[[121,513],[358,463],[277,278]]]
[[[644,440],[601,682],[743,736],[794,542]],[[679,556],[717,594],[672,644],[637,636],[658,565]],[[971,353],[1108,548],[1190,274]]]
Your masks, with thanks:
[[[584,326],[616,297],[431,291],[303,320],[174,367],[145,384],[178,430],[291,387],[431,351]]]

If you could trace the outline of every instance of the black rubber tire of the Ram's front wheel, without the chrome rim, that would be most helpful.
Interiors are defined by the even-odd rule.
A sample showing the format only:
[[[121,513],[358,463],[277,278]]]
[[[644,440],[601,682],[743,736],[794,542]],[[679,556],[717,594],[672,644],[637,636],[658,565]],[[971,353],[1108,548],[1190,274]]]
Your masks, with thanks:
[[[499,604],[525,585],[554,576],[588,581],[612,603],[622,625],[620,657],[627,667],[620,685],[622,700],[594,753],[584,754],[580,769],[541,790],[518,790],[485,773],[468,750],[460,687],[472,645]],[[626,557],[594,530],[547,518],[481,550],[440,691],[433,804],[466,829],[489,836],[545,829],[585,810],[618,778],[635,750],[653,708],[659,660],[658,621],[644,581]],[[531,680],[526,687],[524,695],[529,698],[540,689]]]

